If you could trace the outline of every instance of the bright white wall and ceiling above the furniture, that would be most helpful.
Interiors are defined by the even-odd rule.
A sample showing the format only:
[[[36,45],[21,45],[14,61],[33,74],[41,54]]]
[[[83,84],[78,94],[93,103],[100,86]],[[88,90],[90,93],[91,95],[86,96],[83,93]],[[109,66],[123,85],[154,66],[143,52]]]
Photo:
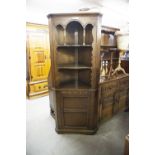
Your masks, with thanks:
[[[27,0],[26,21],[48,24],[47,14],[76,12],[81,8],[103,13],[102,25],[128,30],[128,0]]]

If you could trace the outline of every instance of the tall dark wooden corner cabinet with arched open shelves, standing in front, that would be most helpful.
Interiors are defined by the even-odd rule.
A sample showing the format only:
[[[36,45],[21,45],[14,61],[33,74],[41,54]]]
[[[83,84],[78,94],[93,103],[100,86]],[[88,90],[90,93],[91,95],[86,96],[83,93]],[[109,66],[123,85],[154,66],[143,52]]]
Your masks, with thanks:
[[[58,133],[97,130],[101,17],[82,12],[48,15],[49,98]]]

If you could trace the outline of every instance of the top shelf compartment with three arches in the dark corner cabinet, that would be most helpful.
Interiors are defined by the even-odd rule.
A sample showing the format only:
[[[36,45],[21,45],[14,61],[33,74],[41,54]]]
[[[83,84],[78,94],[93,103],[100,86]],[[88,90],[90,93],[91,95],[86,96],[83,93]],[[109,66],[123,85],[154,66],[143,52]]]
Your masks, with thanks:
[[[92,24],[83,27],[78,21],[71,21],[66,27],[59,24],[56,26],[58,47],[90,46],[93,43],[92,31]]]

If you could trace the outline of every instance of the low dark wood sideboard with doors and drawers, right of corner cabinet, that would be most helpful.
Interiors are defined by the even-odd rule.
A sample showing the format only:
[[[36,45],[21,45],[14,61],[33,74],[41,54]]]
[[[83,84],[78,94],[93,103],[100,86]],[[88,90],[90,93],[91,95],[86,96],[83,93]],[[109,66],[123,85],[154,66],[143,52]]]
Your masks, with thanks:
[[[107,120],[129,107],[129,76],[106,80],[99,85],[100,119]]]

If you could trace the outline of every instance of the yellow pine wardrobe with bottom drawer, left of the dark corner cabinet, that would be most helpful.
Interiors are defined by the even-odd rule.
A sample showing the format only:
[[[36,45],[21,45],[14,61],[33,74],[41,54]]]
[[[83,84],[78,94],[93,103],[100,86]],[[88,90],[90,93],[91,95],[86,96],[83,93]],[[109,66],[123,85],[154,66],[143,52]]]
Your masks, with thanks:
[[[47,94],[47,77],[50,68],[48,26],[27,23],[26,25],[27,96]]]

